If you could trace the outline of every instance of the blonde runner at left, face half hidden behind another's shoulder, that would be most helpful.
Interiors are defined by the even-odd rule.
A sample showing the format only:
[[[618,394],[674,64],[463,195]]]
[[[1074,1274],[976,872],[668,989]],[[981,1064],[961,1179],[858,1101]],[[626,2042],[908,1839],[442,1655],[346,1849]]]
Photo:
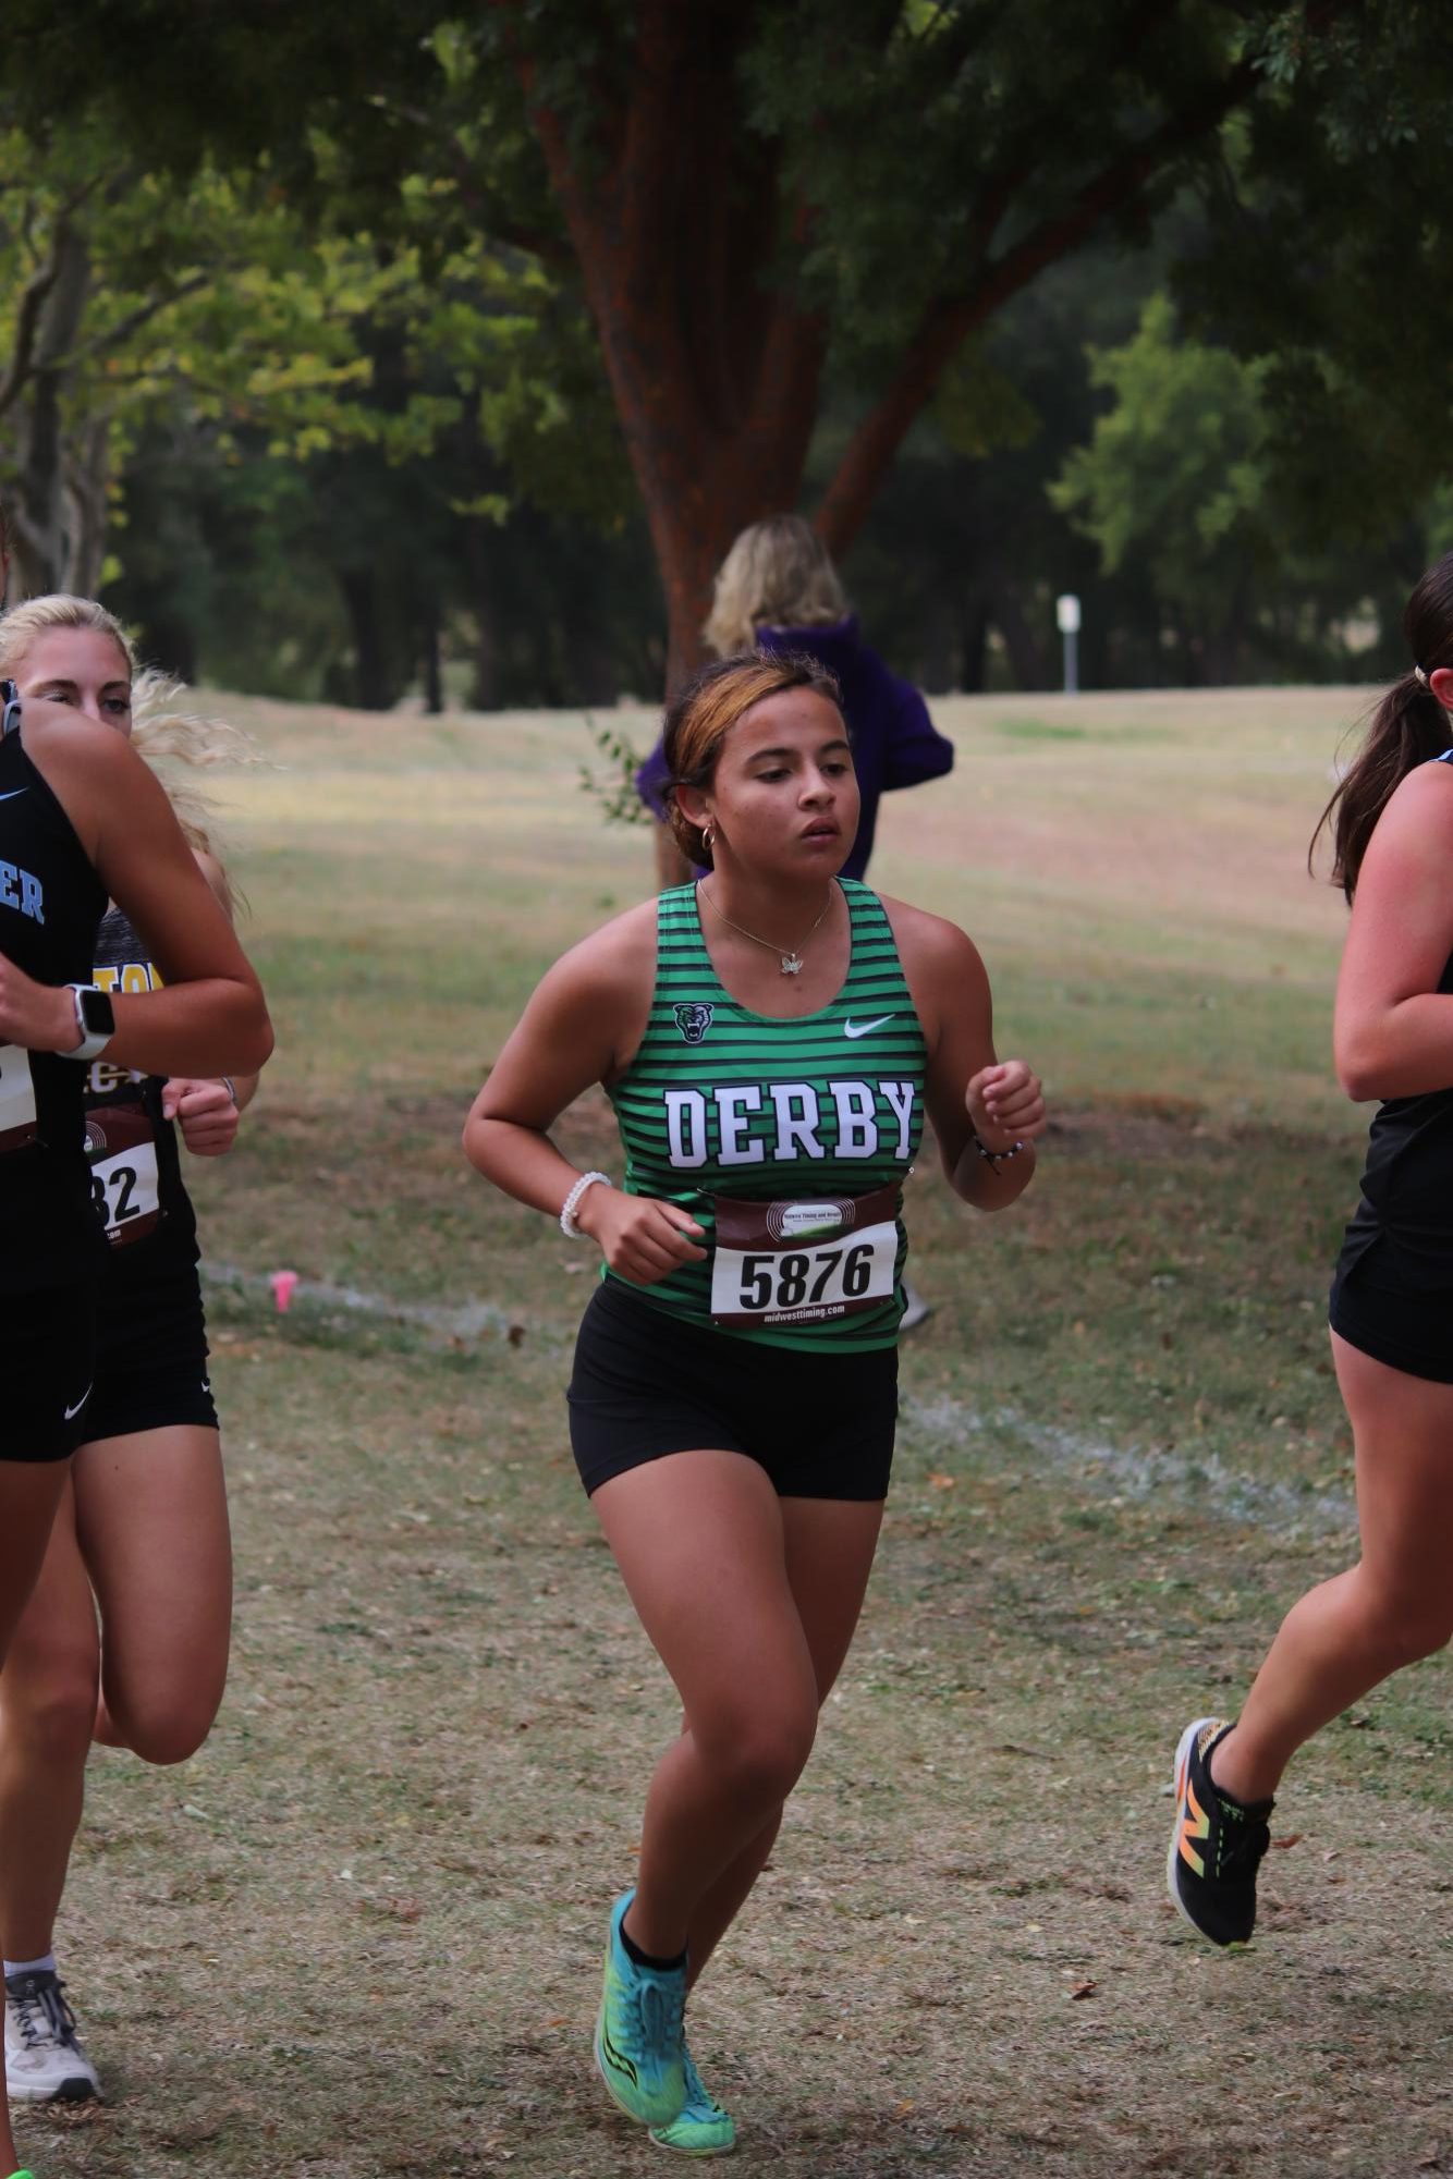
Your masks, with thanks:
[[[135,734],[137,747],[194,763],[222,754],[229,730],[181,713],[174,684],[148,673],[133,686],[122,628],[87,599],[15,608],[0,621],[0,671],[22,704],[74,686],[83,710]],[[227,874],[198,819],[198,798],[183,795],[183,830],[231,915]],[[144,939],[115,906],[100,924],[94,981],[102,991],[157,983]],[[52,1952],[91,1739],[181,1763],[222,1700],[231,1545],[176,1131],[194,1155],[222,1155],[255,1087],[255,1074],[161,1081],[111,1059],[91,1061],[87,1074],[91,1194],[111,1244],[96,1381],[41,1578],[0,1673],[4,2068],[15,2103],[100,2094]]]

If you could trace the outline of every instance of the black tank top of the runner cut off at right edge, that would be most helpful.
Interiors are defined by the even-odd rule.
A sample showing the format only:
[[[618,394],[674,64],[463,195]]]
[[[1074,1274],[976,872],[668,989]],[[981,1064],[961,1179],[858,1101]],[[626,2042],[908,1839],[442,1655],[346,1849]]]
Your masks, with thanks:
[[[1453,750],[1433,763],[1453,765]],[[1453,996],[1453,954],[1438,991]],[[1412,1279],[1453,1290],[1453,1083],[1423,1096],[1394,1096],[1379,1107],[1368,1135],[1362,1203],[1346,1240],[1353,1262],[1383,1240]]]

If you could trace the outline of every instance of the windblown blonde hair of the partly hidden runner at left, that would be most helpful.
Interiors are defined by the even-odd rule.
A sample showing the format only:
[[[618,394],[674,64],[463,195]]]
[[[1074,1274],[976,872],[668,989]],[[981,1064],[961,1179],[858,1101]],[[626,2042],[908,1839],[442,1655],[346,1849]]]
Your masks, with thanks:
[[[222,885],[231,900],[233,889],[218,839],[216,806],[190,778],[176,778],[172,767],[185,765],[196,771],[211,765],[257,765],[261,763],[257,743],[242,728],[229,726],[227,719],[194,710],[185,682],[150,667],[137,667],[131,636],[115,614],[107,612],[94,597],[70,597],[65,591],[52,591],[48,597],[28,597],[22,606],[11,606],[9,612],[0,614],[0,680],[15,680],[41,636],[70,628],[109,636],[115,643],[131,680],[131,743],[166,787],[187,845],[196,854],[211,856],[222,872]]]

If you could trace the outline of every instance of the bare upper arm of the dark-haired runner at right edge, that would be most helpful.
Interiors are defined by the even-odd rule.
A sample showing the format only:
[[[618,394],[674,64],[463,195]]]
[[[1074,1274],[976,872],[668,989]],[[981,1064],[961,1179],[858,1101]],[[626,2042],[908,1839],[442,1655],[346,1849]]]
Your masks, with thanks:
[[[1377,819],[1346,930],[1333,1052],[1351,1098],[1453,1081],[1453,765],[1418,765]]]

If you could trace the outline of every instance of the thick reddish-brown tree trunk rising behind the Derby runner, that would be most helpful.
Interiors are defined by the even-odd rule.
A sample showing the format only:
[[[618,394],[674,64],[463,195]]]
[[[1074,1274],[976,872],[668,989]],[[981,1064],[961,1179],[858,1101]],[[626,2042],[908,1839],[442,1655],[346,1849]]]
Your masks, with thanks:
[[[728,96],[747,15],[649,0],[586,161],[534,109],[656,545],[669,686],[701,658],[736,532],[797,503],[826,353],[821,318],[765,277],[778,159]]]

